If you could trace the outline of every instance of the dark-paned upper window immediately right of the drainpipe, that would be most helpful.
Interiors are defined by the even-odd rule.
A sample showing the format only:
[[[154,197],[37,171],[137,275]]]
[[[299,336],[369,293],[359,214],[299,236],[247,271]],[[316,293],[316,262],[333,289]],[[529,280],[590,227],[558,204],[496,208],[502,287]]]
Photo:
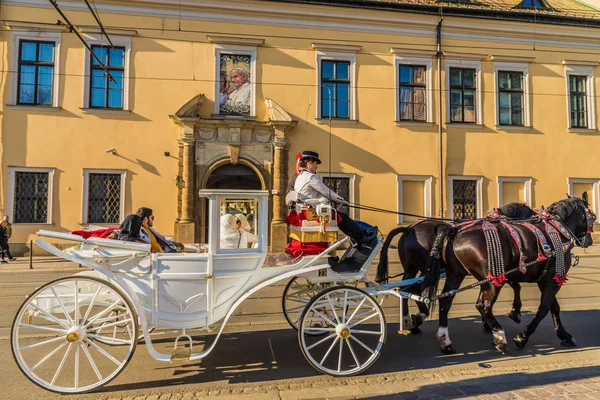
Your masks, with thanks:
[[[475,77],[475,69],[450,68],[450,122],[476,122]]]

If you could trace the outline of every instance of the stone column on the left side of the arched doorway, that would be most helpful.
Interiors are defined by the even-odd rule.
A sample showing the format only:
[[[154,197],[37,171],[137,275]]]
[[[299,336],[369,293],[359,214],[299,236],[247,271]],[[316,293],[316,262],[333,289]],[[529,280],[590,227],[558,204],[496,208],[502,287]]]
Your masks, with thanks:
[[[180,146],[183,146],[183,160],[181,171],[181,218],[177,224],[176,238],[183,243],[194,243],[196,241],[196,222],[194,214],[195,198],[195,156],[196,137],[191,127],[182,129],[183,135],[179,138]],[[190,132],[191,131],[191,132]]]

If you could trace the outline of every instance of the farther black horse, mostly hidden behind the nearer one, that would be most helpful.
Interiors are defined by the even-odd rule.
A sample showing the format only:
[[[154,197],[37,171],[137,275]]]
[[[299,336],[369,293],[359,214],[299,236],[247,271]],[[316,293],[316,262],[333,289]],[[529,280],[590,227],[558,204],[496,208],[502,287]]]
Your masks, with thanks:
[[[503,207],[496,209],[498,214],[508,219],[526,219],[534,215],[534,211],[527,205],[522,203],[510,203]],[[385,282],[389,279],[388,276],[388,248],[392,243],[394,237],[403,233],[398,241],[398,255],[404,274],[402,280],[408,280],[416,278],[419,274],[425,275],[428,266],[431,264],[432,257],[430,255],[431,249],[434,247],[434,243],[440,229],[450,228],[451,225],[448,222],[442,220],[428,219],[422,221],[416,225],[409,227],[400,227],[392,230],[381,249],[381,256],[379,265],[377,266],[377,282]],[[512,283],[511,287],[514,291],[513,309],[509,314],[509,317],[519,323],[521,322],[521,285],[518,282]],[[406,291],[421,295],[425,290],[423,283],[413,285],[410,288],[405,289]],[[499,293],[499,290],[498,290]],[[408,300],[403,299],[403,315],[404,326],[410,328],[412,333],[419,333],[419,325],[423,323],[423,320],[429,316],[429,309],[423,303],[418,302],[419,314],[409,317],[408,311]],[[484,329],[490,331],[490,328],[484,321]]]

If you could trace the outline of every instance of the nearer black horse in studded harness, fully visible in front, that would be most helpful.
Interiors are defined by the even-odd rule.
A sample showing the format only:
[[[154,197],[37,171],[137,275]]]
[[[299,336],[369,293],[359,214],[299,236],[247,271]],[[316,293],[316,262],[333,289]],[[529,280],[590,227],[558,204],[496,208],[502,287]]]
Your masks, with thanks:
[[[572,241],[564,253],[565,273],[571,266],[571,248],[572,242],[577,246],[588,247],[592,244],[591,231],[593,221],[596,216],[589,209],[587,193],[582,198],[568,198],[552,204],[548,208],[552,218],[559,220],[565,226],[572,236]],[[552,243],[551,238],[546,232],[544,221],[533,223],[537,226],[548,243]],[[507,276],[508,282],[531,282],[537,283],[542,294],[538,311],[529,325],[516,336],[513,340],[519,348],[523,348],[529,337],[535,332],[542,319],[550,313],[554,320],[554,329],[561,344],[564,346],[575,346],[575,342],[570,333],[568,333],[560,320],[560,306],[556,299],[556,294],[560,289],[560,284],[556,280],[557,272],[557,251],[562,249],[554,248],[554,254],[546,260],[536,261],[538,258],[539,247],[535,233],[528,228],[514,224],[512,225],[518,232],[523,243],[523,253],[528,266],[525,273],[515,272]],[[520,254],[509,231],[503,226],[496,224],[501,243],[502,256],[504,261],[504,270],[509,271],[519,265]],[[445,228],[444,244],[440,244],[439,249],[443,251],[443,260],[432,264],[425,277],[429,282],[429,296],[435,294],[437,282],[439,281],[439,271],[443,267],[446,271],[446,283],[443,293],[456,290],[460,287],[463,279],[471,274],[475,279],[482,281],[488,277],[490,266],[488,264],[488,249],[486,239],[481,226],[474,226],[464,230],[454,227]],[[440,259],[438,259],[440,260]],[[535,262],[534,262],[535,261]],[[560,272],[560,271],[559,271]],[[502,326],[498,323],[492,313],[494,299],[497,297],[498,287],[491,283],[485,283],[481,286],[481,293],[477,302],[477,309],[481,313],[483,320],[491,328],[494,336],[496,348],[504,353],[507,349],[506,336]],[[448,332],[448,312],[452,306],[454,296],[441,298],[439,300],[439,329],[437,332],[438,340],[442,352],[446,354],[454,353],[452,341]]]

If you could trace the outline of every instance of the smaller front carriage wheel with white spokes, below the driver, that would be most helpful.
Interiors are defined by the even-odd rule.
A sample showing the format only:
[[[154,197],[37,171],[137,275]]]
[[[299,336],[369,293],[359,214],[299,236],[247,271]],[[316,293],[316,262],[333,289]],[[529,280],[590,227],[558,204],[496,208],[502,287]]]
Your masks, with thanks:
[[[298,327],[306,360],[317,371],[333,376],[367,370],[379,358],[385,338],[385,317],[377,301],[350,286],[328,288],[313,297]]]

